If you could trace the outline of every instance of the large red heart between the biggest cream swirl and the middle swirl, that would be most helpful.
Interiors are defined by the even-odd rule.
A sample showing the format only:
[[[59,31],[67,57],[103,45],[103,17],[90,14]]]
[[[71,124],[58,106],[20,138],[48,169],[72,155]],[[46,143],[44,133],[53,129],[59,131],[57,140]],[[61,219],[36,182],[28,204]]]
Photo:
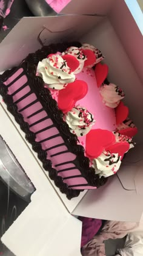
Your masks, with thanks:
[[[88,85],[82,80],[76,80],[68,84],[65,89],[59,91],[58,107],[62,112],[67,113],[71,108],[75,107],[76,101],[84,98],[87,91]]]

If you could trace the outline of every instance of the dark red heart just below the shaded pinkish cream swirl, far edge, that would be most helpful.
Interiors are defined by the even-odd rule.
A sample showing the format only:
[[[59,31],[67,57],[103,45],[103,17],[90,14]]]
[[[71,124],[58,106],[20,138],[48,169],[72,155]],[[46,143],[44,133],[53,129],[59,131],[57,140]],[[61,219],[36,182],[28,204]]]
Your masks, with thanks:
[[[121,101],[118,107],[115,108],[116,124],[121,124],[128,117],[128,107]]]

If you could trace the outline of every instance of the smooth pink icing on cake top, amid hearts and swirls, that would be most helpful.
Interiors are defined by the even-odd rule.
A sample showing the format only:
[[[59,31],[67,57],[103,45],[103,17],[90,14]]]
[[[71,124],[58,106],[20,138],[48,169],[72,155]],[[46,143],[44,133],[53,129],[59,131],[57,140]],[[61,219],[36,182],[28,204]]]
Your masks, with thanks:
[[[76,104],[87,108],[93,114],[96,120],[95,124],[91,127],[93,129],[105,129],[113,131],[116,129],[115,110],[106,107],[102,102],[99,88],[96,84],[95,72],[93,69],[84,68],[81,73],[76,75],[77,79],[84,80],[88,84],[88,93],[83,99],[76,102]],[[85,145],[86,136],[79,137],[79,142]]]

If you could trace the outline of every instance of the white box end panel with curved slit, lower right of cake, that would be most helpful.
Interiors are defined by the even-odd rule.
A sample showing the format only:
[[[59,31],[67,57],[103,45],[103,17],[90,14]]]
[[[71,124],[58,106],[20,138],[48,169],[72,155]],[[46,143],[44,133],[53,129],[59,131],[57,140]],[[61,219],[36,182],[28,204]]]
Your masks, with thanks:
[[[73,214],[138,222],[143,211],[142,147],[142,144],[138,144],[136,150],[131,149],[125,156],[117,175],[109,177],[108,182],[98,190],[88,191],[73,210]]]

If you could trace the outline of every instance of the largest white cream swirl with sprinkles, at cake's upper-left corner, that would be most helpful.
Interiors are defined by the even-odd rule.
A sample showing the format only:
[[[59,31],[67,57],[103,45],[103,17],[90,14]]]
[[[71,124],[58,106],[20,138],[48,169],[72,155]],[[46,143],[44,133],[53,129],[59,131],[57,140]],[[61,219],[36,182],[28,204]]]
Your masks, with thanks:
[[[37,72],[49,88],[56,90],[61,90],[66,84],[75,81],[75,74],[71,72],[67,62],[59,54],[52,54],[39,62]]]

